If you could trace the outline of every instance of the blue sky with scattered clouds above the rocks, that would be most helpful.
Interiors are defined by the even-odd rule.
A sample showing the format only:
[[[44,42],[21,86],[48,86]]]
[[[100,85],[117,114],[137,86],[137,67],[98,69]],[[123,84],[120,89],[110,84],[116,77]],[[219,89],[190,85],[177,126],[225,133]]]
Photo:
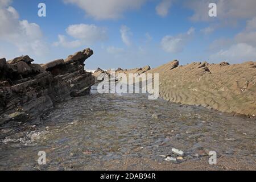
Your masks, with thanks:
[[[217,17],[208,14],[212,2]],[[255,7],[255,0],[0,0],[0,57],[41,64],[89,47],[86,69],[255,61]]]

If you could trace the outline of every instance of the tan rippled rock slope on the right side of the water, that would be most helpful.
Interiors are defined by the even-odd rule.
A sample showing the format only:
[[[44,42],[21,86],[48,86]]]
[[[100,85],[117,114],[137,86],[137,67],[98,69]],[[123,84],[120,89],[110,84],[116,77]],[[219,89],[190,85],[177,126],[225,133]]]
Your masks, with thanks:
[[[175,60],[147,73],[160,74],[160,97],[164,100],[256,115],[256,62],[179,66]]]

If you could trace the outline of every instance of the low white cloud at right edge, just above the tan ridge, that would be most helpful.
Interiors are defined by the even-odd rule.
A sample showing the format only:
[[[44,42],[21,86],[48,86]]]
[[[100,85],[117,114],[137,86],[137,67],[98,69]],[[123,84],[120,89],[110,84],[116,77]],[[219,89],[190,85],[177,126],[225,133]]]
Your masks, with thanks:
[[[228,61],[230,63],[241,63],[242,61],[256,60],[256,48],[245,43],[234,44],[228,49],[217,52],[210,56],[217,61]]]

